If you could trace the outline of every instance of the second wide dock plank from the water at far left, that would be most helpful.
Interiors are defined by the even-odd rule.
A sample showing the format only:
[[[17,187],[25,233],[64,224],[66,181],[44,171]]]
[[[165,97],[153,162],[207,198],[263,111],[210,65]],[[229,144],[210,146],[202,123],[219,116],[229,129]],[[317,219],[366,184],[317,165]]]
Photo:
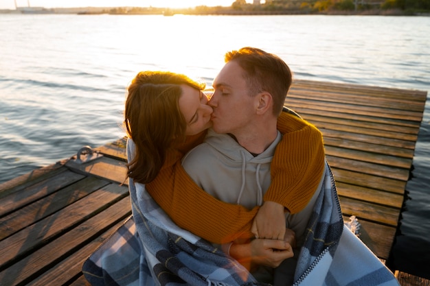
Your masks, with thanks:
[[[76,184],[60,189],[56,193],[47,195],[41,200],[2,217],[0,219],[0,240],[56,213],[56,211],[60,211],[61,208],[65,208],[85,195],[106,186],[106,184],[109,184],[106,180],[94,177],[84,178]]]

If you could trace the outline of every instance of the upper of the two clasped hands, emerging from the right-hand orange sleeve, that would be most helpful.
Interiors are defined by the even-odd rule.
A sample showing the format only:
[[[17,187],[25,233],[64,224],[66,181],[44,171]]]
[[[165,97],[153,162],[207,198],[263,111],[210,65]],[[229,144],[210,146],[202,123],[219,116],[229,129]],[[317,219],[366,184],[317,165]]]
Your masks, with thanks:
[[[284,206],[277,202],[264,202],[254,217],[251,233],[256,238],[283,240],[285,236]]]

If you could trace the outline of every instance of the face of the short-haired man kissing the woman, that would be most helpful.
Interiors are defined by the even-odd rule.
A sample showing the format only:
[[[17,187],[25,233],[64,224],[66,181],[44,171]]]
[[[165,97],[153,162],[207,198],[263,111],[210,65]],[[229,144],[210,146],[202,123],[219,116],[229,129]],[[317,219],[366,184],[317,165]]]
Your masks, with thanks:
[[[212,84],[215,91],[209,105],[214,109],[212,122],[217,133],[231,133],[238,137],[251,131],[256,97],[249,96],[244,73],[238,63],[227,62]]]

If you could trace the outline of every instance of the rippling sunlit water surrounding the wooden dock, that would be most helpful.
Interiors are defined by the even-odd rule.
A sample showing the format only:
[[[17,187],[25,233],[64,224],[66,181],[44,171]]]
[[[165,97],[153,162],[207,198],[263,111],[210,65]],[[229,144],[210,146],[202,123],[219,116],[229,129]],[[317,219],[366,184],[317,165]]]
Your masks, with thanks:
[[[210,84],[223,55],[278,54],[295,78],[430,93],[430,17],[0,14],[0,183],[124,136],[138,71]],[[429,277],[430,102],[390,264]]]

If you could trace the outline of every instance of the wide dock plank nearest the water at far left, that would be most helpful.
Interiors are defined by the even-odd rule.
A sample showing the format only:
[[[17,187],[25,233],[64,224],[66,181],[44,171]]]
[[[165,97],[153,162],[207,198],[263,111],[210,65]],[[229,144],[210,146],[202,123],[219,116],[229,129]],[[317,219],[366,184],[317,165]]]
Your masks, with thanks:
[[[0,216],[21,208],[26,204],[30,204],[45,195],[55,193],[59,189],[73,184],[73,182],[82,180],[82,178],[84,178],[84,176],[80,174],[71,171],[61,171],[60,174],[45,178],[45,180],[37,182],[36,184],[29,184],[27,182],[27,184],[25,184],[26,187],[21,189],[21,191],[11,193],[7,197],[1,199]]]

